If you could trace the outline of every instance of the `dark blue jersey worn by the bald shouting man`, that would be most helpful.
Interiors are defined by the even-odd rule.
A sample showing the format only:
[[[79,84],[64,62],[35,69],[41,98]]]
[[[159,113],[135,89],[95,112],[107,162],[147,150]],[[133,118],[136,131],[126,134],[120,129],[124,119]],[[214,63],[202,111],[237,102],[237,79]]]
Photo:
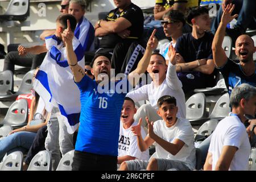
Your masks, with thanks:
[[[249,85],[256,86],[256,70],[253,75],[246,76],[242,71],[241,65],[230,59],[228,59],[223,67],[218,69],[220,69],[220,72],[224,77],[229,95],[231,94],[232,89],[237,85],[247,83]]]

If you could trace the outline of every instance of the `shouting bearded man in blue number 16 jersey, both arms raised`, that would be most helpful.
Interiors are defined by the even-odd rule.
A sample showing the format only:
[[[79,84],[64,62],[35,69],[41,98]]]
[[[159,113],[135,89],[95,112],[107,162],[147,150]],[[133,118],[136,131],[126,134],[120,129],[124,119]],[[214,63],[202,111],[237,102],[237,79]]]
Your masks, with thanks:
[[[77,64],[72,46],[72,31],[68,27],[63,32],[68,64],[80,89],[81,101],[80,127],[72,170],[117,169],[119,119],[123,101],[129,92],[129,84],[133,83],[131,85],[134,86],[138,82],[138,79],[134,81],[135,75],[144,73],[147,69],[151,52],[158,44],[154,35],[155,31],[148,40],[146,52],[138,67],[122,80],[110,81],[111,63],[108,56],[94,57],[92,73],[95,80],[91,80],[85,75],[84,68]],[[108,84],[102,85],[106,80]],[[118,88],[122,89],[121,93]],[[102,89],[107,91],[102,92]]]

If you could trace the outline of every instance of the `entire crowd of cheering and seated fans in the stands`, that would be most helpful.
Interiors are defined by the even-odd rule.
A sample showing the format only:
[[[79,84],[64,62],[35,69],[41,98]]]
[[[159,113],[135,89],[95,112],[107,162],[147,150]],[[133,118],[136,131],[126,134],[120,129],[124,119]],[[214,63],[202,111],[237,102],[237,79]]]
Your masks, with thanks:
[[[75,123],[71,117],[78,118],[59,98],[51,96],[55,103],[50,108],[43,91],[35,92],[28,124],[0,138],[0,160],[22,147],[28,151],[26,170],[33,156],[46,149],[56,169],[61,156],[75,148],[72,170],[194,170],[196,150],[185,98],[194,89],[215,86],[221,72],[232,110],[211,136],[203,169],[246,170],[253,147],[249,139],[256,134],[256,119],[244,125],[245,114],[256,116],[256,48],[245,31],[256,27],[255,19],[248,18],[255,15],[255,2],[224,0],[211,19],[198,1],[156,0],[154,18],[145,22],[141,8],[131,0],[114,4],[116,8],[93,26],[86,19],[83,0],[63,0],[56,30],[40,36],[43,46],[20,46],[7,55],[0,47],[3,71],[14,73],[14,65],[39,67],[35,82],[42,83],[40,65],[47,68],[49,59],[56,60],[55,67],[60,68],[51,67],[55,78],[47,84],[63,92],[61,100],[77,97],[75,92],[65,94],[61,84],[71,83],[80,92],[80,118]],[[238,61],[222,48],[225,34],[233,39]],[[162,39],[168,42],[158,46]],[[67,72],[71,76],[65,82],[57,80]],[[118,73],[123,73],[119,80]],[[138,79],[142,73],[149,73],[150,84]],[[122,92],[116,89],[119,85]],[[34,89],[38,91],[38,84]],[[135,103],[145,100],[149,103],[137,109]],[[31,124],[38,115],[43,122]],[[155,155],[150,158],[152,144]]]

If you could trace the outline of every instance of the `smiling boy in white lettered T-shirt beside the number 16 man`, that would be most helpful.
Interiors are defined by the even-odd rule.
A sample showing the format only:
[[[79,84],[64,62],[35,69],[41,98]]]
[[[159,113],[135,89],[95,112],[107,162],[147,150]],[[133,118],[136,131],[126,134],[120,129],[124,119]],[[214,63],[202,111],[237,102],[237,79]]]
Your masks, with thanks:
[[[131,131],[131,127],[138,125],[138,122],[134,121],[134,114],[137,109],[135,107],[134,101],[131,98],[126,97],[123,102],[123,107],[121,111],[121,123],[118,139],[118,160],[117,164],[121,164],[126,160],[142,159],[148,160],[149,152],[148,150],[142,152],[139,150],[137,145],[137,137]],[[142,138],[146,137],[144,130],[141,130]]]

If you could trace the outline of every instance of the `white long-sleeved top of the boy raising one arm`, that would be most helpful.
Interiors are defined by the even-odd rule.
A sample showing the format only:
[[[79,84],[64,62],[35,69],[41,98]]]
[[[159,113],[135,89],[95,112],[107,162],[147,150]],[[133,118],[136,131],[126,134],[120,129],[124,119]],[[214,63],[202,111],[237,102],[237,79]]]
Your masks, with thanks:
[[[185,95],[182,89],[182,83],[177,77],[176,65],[168,64],[166,79],[158,87],[152,81],[150,84],[143,85],[137,90],[133,90],[126,94],[134,102],[149,100],[150,105],[158,110],[158,99],[162,96],[172,96],[176,98],[178,118],[186,117]]]

